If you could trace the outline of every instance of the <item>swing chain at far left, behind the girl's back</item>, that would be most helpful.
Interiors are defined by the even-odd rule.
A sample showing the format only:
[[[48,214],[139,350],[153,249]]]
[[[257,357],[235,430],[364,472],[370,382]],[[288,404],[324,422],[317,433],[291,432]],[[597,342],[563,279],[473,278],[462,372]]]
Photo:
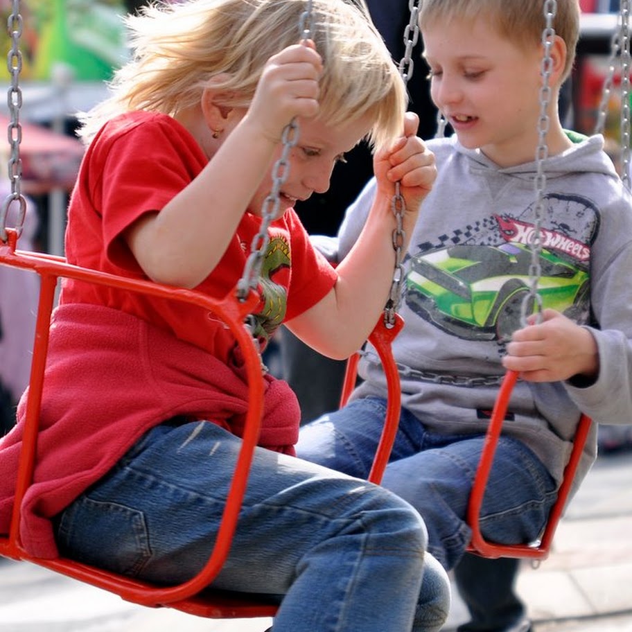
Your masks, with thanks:
[[[19,204],[15,225],[15,232],[18,237],[22,234],[24,220],[26,218],[26,199],[21,193],[22,160],[19,151],[22,140],[22,128],[19,121],[19,110],[22,105],[22,91],[19,85],[19,73],[22,69],[22,54],[19,49],[19,39],[22,34],[22,16],[19,12],[19,5],[20,0],[13,0],[12,12],[7,20],[7,30],[11,38],[11,49],[7,55],[7,68],[11,76],[11,85],[7,95],[7,103],[10,112],[7,135],[11,146],[8,161],[11,193],[7,195],[0,207],[0,240],[3,243],[6,243],[8,239],[6,222],[12,202],[18,202]]]

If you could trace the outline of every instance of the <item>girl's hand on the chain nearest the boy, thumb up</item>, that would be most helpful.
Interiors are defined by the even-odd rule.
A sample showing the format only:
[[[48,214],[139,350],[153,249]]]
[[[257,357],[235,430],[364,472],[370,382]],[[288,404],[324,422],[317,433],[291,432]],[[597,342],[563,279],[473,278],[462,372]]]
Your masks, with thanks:
[[[414,112],[407,112],[403,136],[390,146],[378,150],[374,157],[378,195],[392,198],[395,183],[399,181],[407,211],[415,212],[430,193],[437,177],[435,155],[416,137],[418,128],[419,117]]]

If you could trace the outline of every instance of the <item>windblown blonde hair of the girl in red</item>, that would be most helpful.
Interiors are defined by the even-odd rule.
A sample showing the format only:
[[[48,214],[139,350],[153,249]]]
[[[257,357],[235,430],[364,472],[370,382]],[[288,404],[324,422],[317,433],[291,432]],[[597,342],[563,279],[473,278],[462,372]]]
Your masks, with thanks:
[[[86,141],[100,125],[131,110],[162,112],[200,102],[209,80],[236,107],[247,107],[265,62],[301,38],[305,0],[184,0],[129,16],[132,59],[114,75],[113,96],[82,117]],[[311,37],[322,55],[319,118],[337,125],[374,117],[375,146],[401,134],[403,79],[358,0],[313,0]]]

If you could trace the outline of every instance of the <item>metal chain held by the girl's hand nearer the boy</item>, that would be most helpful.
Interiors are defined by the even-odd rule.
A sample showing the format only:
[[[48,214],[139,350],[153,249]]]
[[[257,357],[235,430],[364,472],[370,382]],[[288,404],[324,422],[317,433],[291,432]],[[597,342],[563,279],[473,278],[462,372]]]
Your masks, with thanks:
[[[408,80],[412,77],[414,70],[414,60],[412,59],[412,51],[419,42],[419,8],[422,0],[409,0],[408,9],[410,10],[410,20],[404,29],[404,55],[399,62],[399,73],[404,81],[404,85],[408,84]],[[395,251],[395,267],[393,272],[393,280],[389,292],[388,300],[384,308],[384,324],[391,329],[395,326],[396,314],[401,306],[402,299],[402,283],[405,277],[403,258],[403,245],[406,240],[404,231],[404,215],[406,213],[406,202],[401,194],[401,186],[399,182],[395,183],[395,193],[391,202],[391,210],[395,217],[396,227],[393,231],[393,249]]]

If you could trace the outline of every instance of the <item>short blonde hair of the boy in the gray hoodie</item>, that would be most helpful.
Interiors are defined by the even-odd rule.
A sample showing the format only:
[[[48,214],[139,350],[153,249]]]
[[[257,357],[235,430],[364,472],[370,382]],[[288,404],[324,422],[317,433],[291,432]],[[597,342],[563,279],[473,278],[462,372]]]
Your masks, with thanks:
[[[556,0],[553,19],[555,34],[566,43],[566,64],[561,81],[570,75],[579,39],[579,0]],[[542,42],[546,26],[545,0],[423,0],[419,12],[421,30],[432,30],[439,19],[476,19],[492,21],[503,37],[516,44],[532,46]],[[560,81],[560,82],[561,82]]]

